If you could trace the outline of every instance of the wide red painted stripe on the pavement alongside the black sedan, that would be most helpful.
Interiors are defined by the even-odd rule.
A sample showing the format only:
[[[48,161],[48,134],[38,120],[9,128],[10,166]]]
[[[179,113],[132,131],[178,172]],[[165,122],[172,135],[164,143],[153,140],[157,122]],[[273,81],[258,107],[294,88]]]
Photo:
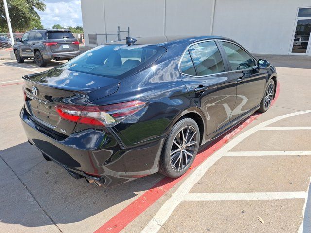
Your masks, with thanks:
[[[276,99],[280,93],[280,84],[277,83],[276,95],[271,105],[275,103]],[[164,177],[161,181],[156,183],[151,189],[147,190],[140,197],[134,200],[131,204],[126,206],[117,215],[113,216],[110,220],[104,223],[99,229],[94,233],[118,233],[124,229],[130,222],[132,222],[136,217],[143,213],[149,206],[155,203],[161,196],[168,192],[176,183],[182,180],[191,169],[199,166],[204,160],[206,160],[211,154],[216,150],[219,150],[233,135],[239,133],[241,129],[245,128],[252,121],[254,121],[261,114],[255,113],[248,119],[231,129],[224,136],[216,139],[212,144],[208,145],[208,149],[196,155],[190,169],[181,177],[177,179]]]

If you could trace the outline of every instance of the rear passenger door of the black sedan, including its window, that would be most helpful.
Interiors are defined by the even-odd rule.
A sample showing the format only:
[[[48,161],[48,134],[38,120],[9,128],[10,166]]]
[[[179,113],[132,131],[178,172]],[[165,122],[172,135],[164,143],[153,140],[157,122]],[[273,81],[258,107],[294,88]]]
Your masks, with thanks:
[[[236,101],[236,82],[228,72],[217,41],[191,45],[180,63],[182,81],[205,115],[206,134],[222,131]]]

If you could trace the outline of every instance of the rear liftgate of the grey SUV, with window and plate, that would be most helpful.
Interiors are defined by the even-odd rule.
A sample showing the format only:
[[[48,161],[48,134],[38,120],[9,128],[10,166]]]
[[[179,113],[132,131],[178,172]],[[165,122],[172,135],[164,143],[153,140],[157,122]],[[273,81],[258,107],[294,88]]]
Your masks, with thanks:
[[[57,42],[51,46],[51,52],[79,51],[79,43],[70,31],[47,31],[48,42]]]

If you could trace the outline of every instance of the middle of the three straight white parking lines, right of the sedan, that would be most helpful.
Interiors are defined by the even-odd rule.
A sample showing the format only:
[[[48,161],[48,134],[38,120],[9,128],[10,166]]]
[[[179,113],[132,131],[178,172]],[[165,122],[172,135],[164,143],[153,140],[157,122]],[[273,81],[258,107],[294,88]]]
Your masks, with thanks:
[[[311,155],[310,150],[289,150],[289,151],[229,151],[224,157],[244,157],[244,156],[282,156],[282,155]]]

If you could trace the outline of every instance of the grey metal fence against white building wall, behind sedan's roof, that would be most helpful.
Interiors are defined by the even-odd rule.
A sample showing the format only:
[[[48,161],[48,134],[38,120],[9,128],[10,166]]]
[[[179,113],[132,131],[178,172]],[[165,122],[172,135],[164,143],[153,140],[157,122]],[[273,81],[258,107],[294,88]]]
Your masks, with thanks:
[[[125,34],[126,33],[126,34]],[[101,45],[104,43],[108,43],[109,41],[118,41],[125,39],[125,37],[130,36],[130,28],[127,27],[127,30],[122,30],[120,26],[118,26],[117,33],[114,32],[98,32],[95,34],[88,34],[88,43],[91,45]]]

